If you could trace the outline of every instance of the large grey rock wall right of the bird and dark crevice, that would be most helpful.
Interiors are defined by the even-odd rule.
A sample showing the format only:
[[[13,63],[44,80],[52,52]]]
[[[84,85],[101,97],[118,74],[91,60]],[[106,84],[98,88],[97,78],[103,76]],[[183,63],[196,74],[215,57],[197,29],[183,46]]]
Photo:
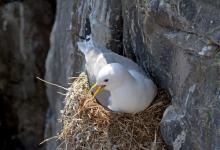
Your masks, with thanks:
[[[161,121],[164,140],[173,149],[218,149],[219,9],[205,1],[138,2],[136,9],[122,4],[123,30],[138,62],[172,96]]]

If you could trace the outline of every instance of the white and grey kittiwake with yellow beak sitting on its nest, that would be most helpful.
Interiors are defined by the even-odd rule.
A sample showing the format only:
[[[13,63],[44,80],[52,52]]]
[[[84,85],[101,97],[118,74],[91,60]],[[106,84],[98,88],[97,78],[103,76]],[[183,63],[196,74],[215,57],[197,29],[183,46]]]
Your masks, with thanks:
[[[90,40],[78,42],[85,55],[86,70],[95,83],[94,96],[112,111],[137,113],[145,110],[157,93],[156,85],[136,63]]]

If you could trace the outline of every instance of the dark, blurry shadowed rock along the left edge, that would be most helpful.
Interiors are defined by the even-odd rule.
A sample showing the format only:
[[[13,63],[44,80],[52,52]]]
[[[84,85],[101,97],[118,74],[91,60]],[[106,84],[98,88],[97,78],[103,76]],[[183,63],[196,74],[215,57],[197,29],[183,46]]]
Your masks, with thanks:
[[[7,3],[5,3],[7,2]],[[48,107],[44,76],[53,21],[49,2],[0,4],[0,149],[41,149]]]

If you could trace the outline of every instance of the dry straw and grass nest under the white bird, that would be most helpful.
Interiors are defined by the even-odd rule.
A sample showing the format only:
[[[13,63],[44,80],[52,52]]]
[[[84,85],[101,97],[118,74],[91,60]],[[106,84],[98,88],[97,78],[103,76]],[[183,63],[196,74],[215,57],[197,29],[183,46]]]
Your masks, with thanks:
[[[89,92],[88,77],[81,73],[69,87],[58,139],[65,149],[166,149],[159,123],[169,103],[159,91],[153,104],[138,114],[105,109]]]

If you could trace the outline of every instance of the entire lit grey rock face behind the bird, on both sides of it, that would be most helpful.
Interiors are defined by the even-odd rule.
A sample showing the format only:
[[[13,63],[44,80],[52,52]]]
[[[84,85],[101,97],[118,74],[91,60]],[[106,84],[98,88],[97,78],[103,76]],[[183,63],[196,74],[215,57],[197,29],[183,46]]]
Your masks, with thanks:
[[[170,148],[220,147],[218,1],[57,0],[57,4],[47,80],[66,85],[68,76],[83,70],[76,34],[86,34],[89,20],[97,46],[136,60],[170,92],[172,104],[161,121]],[[47,88],[52,135],[59,129],[56,119],[62,109],[62,98],[55,92]]]

